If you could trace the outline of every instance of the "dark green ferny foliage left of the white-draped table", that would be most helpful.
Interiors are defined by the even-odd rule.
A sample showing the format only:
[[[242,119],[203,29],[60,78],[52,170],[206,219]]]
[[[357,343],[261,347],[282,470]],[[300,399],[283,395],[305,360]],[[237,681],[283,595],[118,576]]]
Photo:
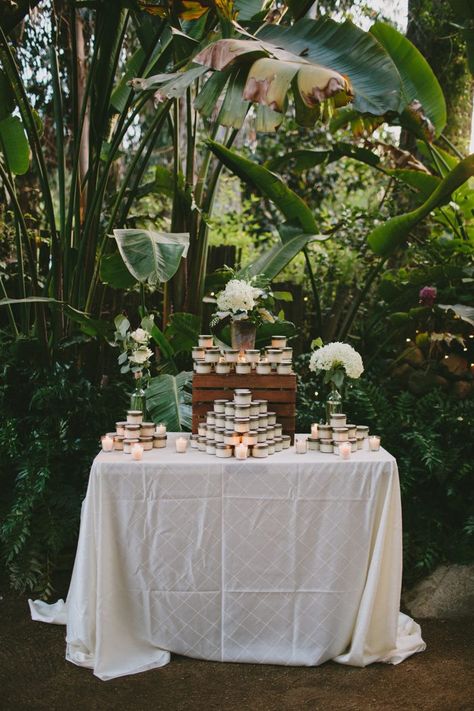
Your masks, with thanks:
[[[72,563],[99,435],[127,400],[73,364],[38,366],[38,351],[32,341],[2,345],[0,551],[15,590],[49,597],[55,568]]]

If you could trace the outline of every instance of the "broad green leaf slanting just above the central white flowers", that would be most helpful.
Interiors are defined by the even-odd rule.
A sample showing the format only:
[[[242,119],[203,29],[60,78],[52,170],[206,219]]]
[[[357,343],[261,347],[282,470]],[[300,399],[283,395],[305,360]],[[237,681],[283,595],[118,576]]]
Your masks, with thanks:
[[[279,232],[281,239],[268,251],[263,252],[249,267],[242,269],[241,277],[264,274],[268,279],[274,279],[307,244],[330,237],[330,235],[301,232],[299,228],[291,225],[283,225]]]

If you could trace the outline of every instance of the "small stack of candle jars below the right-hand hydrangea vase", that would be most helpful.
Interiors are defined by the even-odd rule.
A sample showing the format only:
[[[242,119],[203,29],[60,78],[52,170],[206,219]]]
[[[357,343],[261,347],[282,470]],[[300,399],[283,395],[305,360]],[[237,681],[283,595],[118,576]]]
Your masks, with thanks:
[[[368,436],[368,427],[348,424],[346,415],[335,413],[331,415],[328,424],[311,426],[311,436],[307,439],[307,445],[310,451],[349,455],[357,452],[358,449],[367,448]]]

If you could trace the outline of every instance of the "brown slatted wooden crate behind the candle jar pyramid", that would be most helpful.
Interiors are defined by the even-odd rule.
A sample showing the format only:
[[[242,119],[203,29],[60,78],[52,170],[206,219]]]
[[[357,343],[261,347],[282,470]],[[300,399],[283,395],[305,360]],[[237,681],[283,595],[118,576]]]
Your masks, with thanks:
[[[214,400],[231,400],[236,388],[248,388],[254,400],[268,400],[268,409],[276,412],[283,433],[293,441],[296,416],[296,375],[210,375],[193,377],[193,432],[206,420]]]

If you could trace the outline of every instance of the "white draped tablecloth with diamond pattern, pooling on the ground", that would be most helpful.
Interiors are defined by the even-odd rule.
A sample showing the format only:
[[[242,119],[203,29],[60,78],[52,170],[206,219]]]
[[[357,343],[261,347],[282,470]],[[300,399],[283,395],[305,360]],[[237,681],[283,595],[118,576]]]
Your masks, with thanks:
[[[397,664],[425,649],[399,612],[400,491],[383,449],[218,459],[100,453],[83,503],[66,658],[112,679],[198,659]]]

